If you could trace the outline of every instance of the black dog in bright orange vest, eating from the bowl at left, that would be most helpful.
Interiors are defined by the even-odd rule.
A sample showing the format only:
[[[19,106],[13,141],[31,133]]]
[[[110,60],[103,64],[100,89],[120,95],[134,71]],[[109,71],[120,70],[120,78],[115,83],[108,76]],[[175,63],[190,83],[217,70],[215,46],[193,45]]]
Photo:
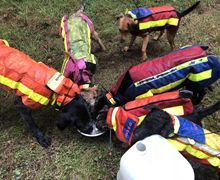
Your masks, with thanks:
[[[81,94],[76,83],[9,47],[7,41],[0,40],[0,52],[0,85],[18,96],[15,106],[41,146],[47,148],[51,144],[32,117],[32,111],[42,106],[54,105],[60,109],[57,120],[60,130],[71,125],[84,133],[93,130],[91,102],[83,98],[88,97],[86,94],[91,95],[93,89]]]

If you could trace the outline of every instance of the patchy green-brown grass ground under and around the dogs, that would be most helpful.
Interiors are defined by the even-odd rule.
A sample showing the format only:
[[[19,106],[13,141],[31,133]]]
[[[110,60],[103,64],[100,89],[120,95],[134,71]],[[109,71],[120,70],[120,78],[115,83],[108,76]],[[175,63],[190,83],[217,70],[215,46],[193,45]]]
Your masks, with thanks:
[[[157,6],[169,4],[184,9],[195,0],[140,0],[140,5]],[[1,0],[0,38],[6,39],[15,47],[36,61],[59,70],[64,57],[63,43],[57,37],[60,20],[79,7],[77,0]],[[109,88],[127,67],[140,63],[141,40],[136,42],[133,51],[123,54],[118,42],[115,16],[134,8],[131,1],[93,0],[88,1],[86,13],[93,21],[103,39],[107,51],[96,52],[99,66],[95,75],[97,83]],[[186,16],[176,38],[177,47],[203,43],[210,45],[210,51],[220,55],[220,4],[215,0],[204,0],[201,6]],[[97,50],[97,45],[93,45]],[[169,52],[165,37],[160,42],[151,41],[148,47],[149,58]],[[218,83],[219,84],[219,83]],[[219,85],[209,93],[203,105],[220,99]],[[7,91],[0,91],[0,179],[114,179],[124,153],[120,143],[114,138],[114,147],[109,151],[108,134],[89,139],[80,136],[75,129],[59,132],[55,127],[57,112],[45,108],[34,113],[41,129],[52,139],[48,149],[40,147],[25,128],[13,107],[14,97]],[[219,114],[208,118],[205,126],[219,130]],[[196,169],[196,166],[194,166]],[[204,178],[213,176],[206,170]],[[204,175],[201,172],[200,176]],[[199,175],[198,175],[199,177]],[[215,176],[213,176],[214,178]]]

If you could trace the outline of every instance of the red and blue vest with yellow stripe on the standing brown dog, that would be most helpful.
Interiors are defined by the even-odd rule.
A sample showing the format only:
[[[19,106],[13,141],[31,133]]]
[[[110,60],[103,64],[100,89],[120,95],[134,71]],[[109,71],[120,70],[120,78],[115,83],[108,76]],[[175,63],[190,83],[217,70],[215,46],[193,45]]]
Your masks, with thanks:
[[[171,6],[136,8],[129,11],[127,14],[134,20],[138,20],[137,31],[147,30],[151,32],[164,28],[167,25],[179,25],[179,18],[176,10]]]

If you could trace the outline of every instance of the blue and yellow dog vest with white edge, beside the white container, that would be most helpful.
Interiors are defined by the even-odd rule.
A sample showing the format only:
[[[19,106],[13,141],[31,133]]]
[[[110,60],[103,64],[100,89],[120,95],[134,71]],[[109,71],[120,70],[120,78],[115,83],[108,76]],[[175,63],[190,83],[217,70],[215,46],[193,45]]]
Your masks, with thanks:
[[[220,170],[220,135],[212,133],[184,118],[174,119],[174,136],[168,141],[183,155]]]

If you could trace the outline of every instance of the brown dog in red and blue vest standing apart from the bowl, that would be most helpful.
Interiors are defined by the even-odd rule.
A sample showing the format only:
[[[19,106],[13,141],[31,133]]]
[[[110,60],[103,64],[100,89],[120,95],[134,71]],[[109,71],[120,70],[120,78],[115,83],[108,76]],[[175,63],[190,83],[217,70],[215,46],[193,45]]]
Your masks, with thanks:
[[[118,29],[121,34],[121,41],[124,41],[127,35],[132,35],[129,46],[125,46],[123,51],[127,52],[133,45],[137,36],[143,38],[141,48],[142,61],[148,59],[146,49],[150,39],[150,33],[160,31],[154,40],[159,40],[166,30],[167,40],[171,49],[175,49],[174,39],[177,34],[180,20],[193,11],[200,1],[188,9],[178,12],[171,6],[153,7],[153,8],[137,8],[129,11],[127,14],[120,13],[117,16]]]

